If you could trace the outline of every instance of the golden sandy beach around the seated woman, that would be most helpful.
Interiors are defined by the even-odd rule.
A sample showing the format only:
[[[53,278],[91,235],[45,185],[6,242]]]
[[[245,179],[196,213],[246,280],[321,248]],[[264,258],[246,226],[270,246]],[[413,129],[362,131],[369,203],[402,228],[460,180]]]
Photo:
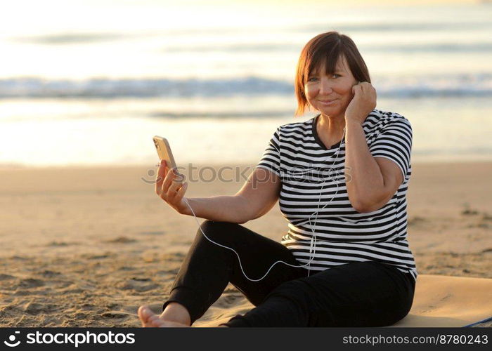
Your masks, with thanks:
[[[157,197],[155,169],[0,168],[1,326],[139,326],[139,305],[160,310],[198,226]],[[492,162],[413,164],[419,274],[492,278],[491,174]],[[235,194],[243,181],[190,183],[186,196]],[[287,223],[277,204],[245,226],[280,241]],[[250,307],[229,285],[196,325]]]

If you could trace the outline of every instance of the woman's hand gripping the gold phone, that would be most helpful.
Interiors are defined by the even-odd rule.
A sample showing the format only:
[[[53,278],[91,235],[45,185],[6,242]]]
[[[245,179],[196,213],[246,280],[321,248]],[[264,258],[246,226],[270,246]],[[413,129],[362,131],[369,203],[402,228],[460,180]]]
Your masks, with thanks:
[[[155,193],[181,214],[190,213],[188,204],[184,201],[184,194],[188,183],[182,183],[183,176],[177,169],[169,169],[166,161],[161,160],[157,177],[155,178]]]

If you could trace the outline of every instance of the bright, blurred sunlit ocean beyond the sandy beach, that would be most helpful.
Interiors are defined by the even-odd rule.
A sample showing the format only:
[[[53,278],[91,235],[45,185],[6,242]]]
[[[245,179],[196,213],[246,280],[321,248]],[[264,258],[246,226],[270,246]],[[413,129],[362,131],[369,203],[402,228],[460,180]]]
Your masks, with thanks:
[[[309,39],[337,30],[412,161],[492,159],[492,4],[18,1],[0,25],[0,166],[254,164],[294,117]]]

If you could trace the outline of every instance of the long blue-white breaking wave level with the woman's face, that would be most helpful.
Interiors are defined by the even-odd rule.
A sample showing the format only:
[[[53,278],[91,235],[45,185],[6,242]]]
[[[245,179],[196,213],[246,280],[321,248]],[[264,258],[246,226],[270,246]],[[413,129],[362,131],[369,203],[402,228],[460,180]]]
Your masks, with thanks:
[[[492,73],[425,77],[377,77],[382,98],[477,97],[492,95]],[[293,95],[280,79],[0,79],[0,98],[191,98],[235,95]]]

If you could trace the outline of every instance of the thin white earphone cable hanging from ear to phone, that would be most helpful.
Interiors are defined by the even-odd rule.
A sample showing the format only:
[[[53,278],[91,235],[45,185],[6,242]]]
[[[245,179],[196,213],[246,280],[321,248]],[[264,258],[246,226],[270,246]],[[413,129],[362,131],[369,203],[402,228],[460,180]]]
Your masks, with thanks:
[[[333,166],[335,165],[335,162],[337,161],[338,159],[338,152],[340,151],[340,147],[342,147],[342,143],[344,141],[344,136],[345,136],[345,128],[344,128],[344,132],[342,134],[342,140],[340,141],[340,145],[338,146],[338,149],[337,149],[337,152],[335,154],[335,161],[333,161],[332,165],[330,166],[330,169],[333,168]],[[311,168],[312,169],[312,168]],[[221,247],[224,247],[225,249],[229,249],[229,250],[232,250],[234,251],[235,255],[238,256],[238,260],[239,260],[239,267],[241,268],[241,271],[242,271],[242,274],[244,274],[245,278],[250,280],[251,282],[259,282],[261,279],[264,279],[264,277],[266,277],[266,275],[268,274],[268,272],[270,272],[270,270],[273,268],[274,265],[276,265],[277,263],[285,263],[285,265],[288,265],[290,267],[308,267],[308,277],[309,277],[309,273],[311,272],[311,261],[314,259],[314,255],[316,254],[316,233],[314,232],[314,228],[313,228],[313,225],[316,225],[316,220],[318,219],[318,212],[320,211],[320,209],[323,209],[325,208],[326,206],[328,206],[328,204],[330,204],[330,202],[335,199],[335,195],[338,193],[338,182],[336,181],[336,178],[335,178],[335,183],[337,184],[337,191],[335,192],[335,194],[333,194],[333,197],[330,199],[330,201],[328,201],[327,204],[325,204],[325,206],[323,206],[322,208],[319,208],[320,206],[320,202],[321,202],[321,190],[323,190],[323,187],[325,187],[325,185],[323,185],[323,187],[321,187],[321,190],[320,190],[320,197],[318,199],[318,208],[316,209],[316,212],[313,212],[311,213],[311,216],[309,216],[308,218],[308,221],[309,221],[309,225],[311,225],[311,231],[313,232],[313,237],[311,237],[311,244],[309,246],[309,262],[306,263],[305,265],[291,265],[290,263],[287,263],[287,262],[284,262],[282,260],[278,260],[276,261],[275,263],[273,263],[273,265],[271,265],[270,268],[268,268],[268,270],[266,271],[266,273],[264,274],[263,277],[259,278],[259,279],[251,279],[250,277],[248,277],[245,273],[245,270],[242,269],[242,263],[241,263],[241,259],[239,257],[239,254],[234,250],[234,249],[231,249],[230,247],[228,246],[225,246],[225,245],[222,245],[222,244],[219,244],[215,241],[213,241],[212,239],[209,239],[209,237],[207,237],[207,235],[203,232],[202,230],[202,227],[200,227],[200,223],[198,222],[198,218],[197,216],[195,215],[195,212],[193,211],[193,208],[191,208],[190,206],[190,203],[188,202],[188,199],[186,199],[186,197],[183,197],[183,200],[186,202],[186,204],[188,205],[188,207],[190,208],[191,210],[191,213],[193,213],[193,216],[195,217],[195,220],[198,224],[198,228],[200,229],[200,232],[202,232],[203,236],[206,237],[209,241],[211,241],[212,243],[216,244],[216,245],[219,245]],[[316,214],[316,218],[314,218],[314,224],[311,223],[311,217]],[[313,249],[313,246],[314,246],[314,249]],[[311,256],[311,253],[312,253],[312,256]]]

